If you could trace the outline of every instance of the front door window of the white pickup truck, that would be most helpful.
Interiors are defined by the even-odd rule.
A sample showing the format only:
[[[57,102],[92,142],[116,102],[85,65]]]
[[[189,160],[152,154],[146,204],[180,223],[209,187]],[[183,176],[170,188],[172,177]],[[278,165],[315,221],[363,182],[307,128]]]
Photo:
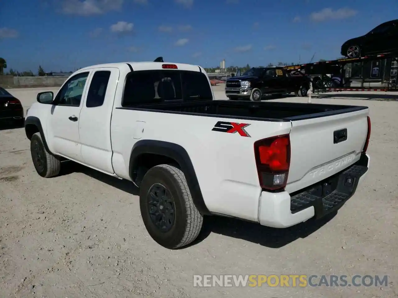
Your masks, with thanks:
[[[55,101],[63,106],[80,106],[84,86],[89,72],[82,72],[71,77],[57,94]]]

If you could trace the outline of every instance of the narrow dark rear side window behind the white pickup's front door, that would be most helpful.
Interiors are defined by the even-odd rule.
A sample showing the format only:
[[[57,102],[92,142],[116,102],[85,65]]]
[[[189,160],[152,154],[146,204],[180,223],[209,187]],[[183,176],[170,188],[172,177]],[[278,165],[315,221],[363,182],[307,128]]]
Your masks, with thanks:
[[[100,70],[94,73],[87,93],[86,107],[102,106],[110,76],[109,70]]]

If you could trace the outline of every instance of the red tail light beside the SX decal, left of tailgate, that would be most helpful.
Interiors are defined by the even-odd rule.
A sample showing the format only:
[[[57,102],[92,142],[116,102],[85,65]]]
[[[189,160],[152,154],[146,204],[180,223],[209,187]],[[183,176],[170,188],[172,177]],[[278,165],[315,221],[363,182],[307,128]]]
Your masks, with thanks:
[[[283,190],[290,166],[289,135],[278,135],[256,141],[254,157],[261,188]]]

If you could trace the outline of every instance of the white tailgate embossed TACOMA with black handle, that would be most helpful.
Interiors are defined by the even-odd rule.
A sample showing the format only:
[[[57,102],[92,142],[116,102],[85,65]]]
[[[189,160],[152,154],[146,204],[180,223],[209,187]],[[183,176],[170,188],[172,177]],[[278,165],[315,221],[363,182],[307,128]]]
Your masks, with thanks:
[[[333,116],[292,120],[287,192],[301,190],[358,161],[366,141],[368,114],[369,109],[366,108]]]

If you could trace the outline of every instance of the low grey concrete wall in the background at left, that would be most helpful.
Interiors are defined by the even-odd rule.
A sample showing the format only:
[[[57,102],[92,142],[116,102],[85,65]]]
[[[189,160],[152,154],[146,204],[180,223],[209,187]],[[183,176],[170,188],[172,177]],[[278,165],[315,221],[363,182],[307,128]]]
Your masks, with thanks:
[[[68,77],[13,77],[0,75],[0,86],[4,88],[60,87]]]

